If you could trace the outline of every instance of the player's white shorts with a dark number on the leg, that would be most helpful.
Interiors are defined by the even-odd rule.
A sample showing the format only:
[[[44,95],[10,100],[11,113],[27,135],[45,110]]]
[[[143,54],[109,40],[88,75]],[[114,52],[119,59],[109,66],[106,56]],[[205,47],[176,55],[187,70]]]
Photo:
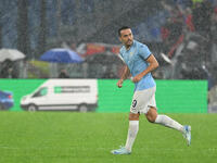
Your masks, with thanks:
[[[156,87],[135,91],[132,104],[130,106],[130,112],[135,114],[146,114],[150,110],[150,106],[156,109],[155,91]]]

